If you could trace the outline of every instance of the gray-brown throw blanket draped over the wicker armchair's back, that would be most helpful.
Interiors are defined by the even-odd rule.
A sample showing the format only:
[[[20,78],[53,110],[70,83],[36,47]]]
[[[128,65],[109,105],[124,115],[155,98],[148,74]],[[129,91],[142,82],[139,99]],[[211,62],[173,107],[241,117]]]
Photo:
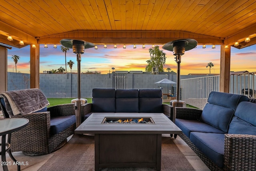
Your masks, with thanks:
[[[4,98],[6,111],[10,117],[26,115],[41,110],[49,105],[49,101],[40,89],[22,89],[0,93]]]

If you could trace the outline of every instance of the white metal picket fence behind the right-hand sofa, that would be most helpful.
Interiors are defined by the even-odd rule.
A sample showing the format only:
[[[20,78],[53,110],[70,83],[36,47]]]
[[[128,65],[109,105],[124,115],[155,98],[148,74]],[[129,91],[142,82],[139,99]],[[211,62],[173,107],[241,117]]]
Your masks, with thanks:
[[[230,93],[256,98],[256,72],[230,73]],[[211,91],[219,91],[220,76],[207,76],[180,80],[181,100],[203,109]]]

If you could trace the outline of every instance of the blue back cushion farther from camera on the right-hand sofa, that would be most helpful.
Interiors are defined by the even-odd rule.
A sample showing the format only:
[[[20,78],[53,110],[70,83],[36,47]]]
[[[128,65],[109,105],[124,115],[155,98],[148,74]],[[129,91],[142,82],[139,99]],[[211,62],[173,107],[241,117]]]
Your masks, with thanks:
[[[200,120],[228,132],[228,125],[234,115],[236,106],[241,101],[248,100],[248,97],[244,95],[212,91]]]

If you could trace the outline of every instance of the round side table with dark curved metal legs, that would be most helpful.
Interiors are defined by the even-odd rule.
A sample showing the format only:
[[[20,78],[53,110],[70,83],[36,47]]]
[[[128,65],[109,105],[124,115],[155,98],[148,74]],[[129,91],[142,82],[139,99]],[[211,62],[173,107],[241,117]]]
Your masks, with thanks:
[[[8,152],[9,156],[14,162],[17,160],[13,157],[11,152],[11,133],[22,129],[28,125],[29,120],[26,118],[6,118],[0,119],[0,136],[2,136],[2,144],[1,145],[1,158],[2,158],[2,166],[4,171],[8,171],[7,162],[6,162],[6,152]],[[8,142],[6,143],[6,135],[8,134]],[[7,148],[6,148],[7,147]],[[20,165],[18,165],[18,171],[20,171]]]

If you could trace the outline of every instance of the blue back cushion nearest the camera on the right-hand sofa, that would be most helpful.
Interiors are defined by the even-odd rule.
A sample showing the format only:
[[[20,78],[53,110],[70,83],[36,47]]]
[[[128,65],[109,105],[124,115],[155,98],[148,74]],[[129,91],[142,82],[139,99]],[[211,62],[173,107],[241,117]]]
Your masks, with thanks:
[[[234,115],[228,133],[256,135],[256,103],[239,103]]]

